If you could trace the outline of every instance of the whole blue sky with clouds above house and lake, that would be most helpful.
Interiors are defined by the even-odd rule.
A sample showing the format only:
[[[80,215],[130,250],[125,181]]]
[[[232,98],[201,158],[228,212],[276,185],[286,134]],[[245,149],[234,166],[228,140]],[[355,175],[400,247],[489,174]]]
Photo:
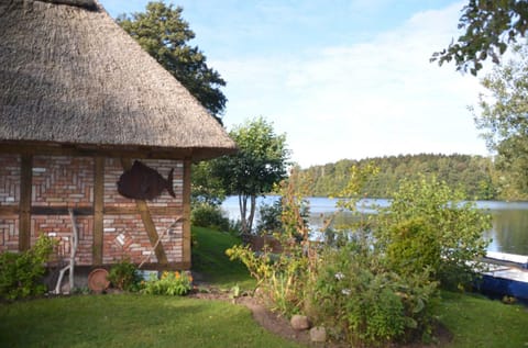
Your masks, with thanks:
[[[112,16],[143,0],[99,0]],[[228,81],[228,130],[262,115],[302,167],[400,154],[487,155],[479,79],[429,63],[465,1],[182,0],[191,42]]]

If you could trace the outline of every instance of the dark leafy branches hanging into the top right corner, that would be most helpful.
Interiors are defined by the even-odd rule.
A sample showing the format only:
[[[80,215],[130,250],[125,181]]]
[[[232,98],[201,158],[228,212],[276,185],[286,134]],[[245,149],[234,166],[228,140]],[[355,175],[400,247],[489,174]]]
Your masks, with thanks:
[[[509,45],[525,37],[528,30],[528,1],[470,0],[462,9],[457,42],[432,55],[440,65],[453,60],[457,70],[475,75],[487,58],[498,63]]]

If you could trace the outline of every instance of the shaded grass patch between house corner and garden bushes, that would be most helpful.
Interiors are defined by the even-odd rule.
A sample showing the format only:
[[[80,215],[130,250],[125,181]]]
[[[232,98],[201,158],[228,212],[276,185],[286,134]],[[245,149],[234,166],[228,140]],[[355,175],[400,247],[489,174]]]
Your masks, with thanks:
[[[254,288],[255,281],[239,261],[230,261],[226,249],[240,244],[240,239],[223,232],[205,227],[193,227],[193,270],[206,276],[207,281],[219,288],[230,289],[239,284],[243,289]]]

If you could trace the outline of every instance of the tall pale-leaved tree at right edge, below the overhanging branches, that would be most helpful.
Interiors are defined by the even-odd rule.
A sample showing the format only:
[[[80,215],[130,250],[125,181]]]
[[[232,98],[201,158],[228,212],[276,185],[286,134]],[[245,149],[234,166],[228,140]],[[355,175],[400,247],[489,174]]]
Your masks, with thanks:
[[[496,66],[482,80],[475,122],[497,153],[502,197],[528,198],[528,47],[515,46],[517,59]]]

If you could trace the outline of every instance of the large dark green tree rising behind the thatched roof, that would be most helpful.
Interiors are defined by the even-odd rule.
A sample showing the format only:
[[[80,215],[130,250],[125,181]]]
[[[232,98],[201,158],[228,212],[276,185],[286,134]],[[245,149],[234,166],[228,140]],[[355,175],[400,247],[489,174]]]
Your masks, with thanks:
[[[197,46],[187,44],[195,33],[182,12],[182,8],[163,1],[148,2],[145,12],[121,14],[117,22],[221,122],[227,98],[220,88],[226,81],[207,66],[206,56]]]

